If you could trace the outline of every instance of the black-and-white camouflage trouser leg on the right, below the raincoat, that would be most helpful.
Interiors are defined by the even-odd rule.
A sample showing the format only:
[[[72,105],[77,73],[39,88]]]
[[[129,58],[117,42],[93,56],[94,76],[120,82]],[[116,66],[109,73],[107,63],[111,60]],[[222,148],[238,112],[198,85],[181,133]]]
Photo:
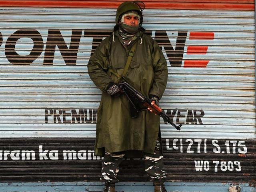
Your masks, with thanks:
[[[154,182],[164,182],[167,176],[161,151],[162,145],[160,139],[157,138],[154,154],[144,154],[146,173]]]

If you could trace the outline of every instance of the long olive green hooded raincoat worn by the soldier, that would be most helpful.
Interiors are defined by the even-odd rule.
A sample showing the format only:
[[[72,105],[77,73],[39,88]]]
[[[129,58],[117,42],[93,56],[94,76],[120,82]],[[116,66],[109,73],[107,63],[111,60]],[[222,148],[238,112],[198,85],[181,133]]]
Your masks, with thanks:
[[[160,117],[143,111],[137,118],[131,118],[128,98],[124,94],[113,97],[106,92],[108,85],[118,80],[109,70],[121,75],[128,52],[136,43],[135,53],[125,77],[146,96],[152,94],[162,97],[168,76],[166,59],[156,41],[144,34],[143,28],[136,36],[136,40],[125,48],[115,31],[101,42],[88,62],[90,78],[102,90],[96,126],[97,156],[104,156],[104,151],[154,152]]]

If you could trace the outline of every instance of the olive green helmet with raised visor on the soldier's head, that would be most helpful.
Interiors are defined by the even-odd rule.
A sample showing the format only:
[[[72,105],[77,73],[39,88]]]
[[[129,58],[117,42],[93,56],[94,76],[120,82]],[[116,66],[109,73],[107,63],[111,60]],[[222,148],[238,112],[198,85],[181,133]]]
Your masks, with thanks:
[[[144,8],[145,8],[145,4],[141,1],[126,1],[120,4],[120,6],[116,10],[116,24],[118,24],[118,22],[120,21],[122,14],[131,10],[135,10],[140,15],[140,26],[141,26],[143,22],[142,10],[144,10]]]

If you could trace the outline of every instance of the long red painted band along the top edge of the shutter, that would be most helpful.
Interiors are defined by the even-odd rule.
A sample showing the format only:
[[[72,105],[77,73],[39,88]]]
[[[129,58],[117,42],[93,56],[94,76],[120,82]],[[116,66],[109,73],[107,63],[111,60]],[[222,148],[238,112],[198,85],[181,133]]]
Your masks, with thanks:
[[[123,1],[82,1],[82,0],[0,0],[1,6],[14,7],[68,7],[68,8],[117,8]],[[218,3],[220,2],[220,3]],[[179,10],[254,10],[254,2],[251,0],[231,0],[229,3],[224,0],[185,0],[184,1],[145,1],[147,9],[179,9]],[[242,2],[242,3],[241,3]],[[244,2],[244,3],[243,3]]]

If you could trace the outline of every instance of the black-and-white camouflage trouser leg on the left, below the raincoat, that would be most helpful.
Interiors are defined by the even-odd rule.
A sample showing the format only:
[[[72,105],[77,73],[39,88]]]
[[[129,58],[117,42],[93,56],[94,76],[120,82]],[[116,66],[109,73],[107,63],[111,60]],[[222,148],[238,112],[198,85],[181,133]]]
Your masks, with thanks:
[[[117,183],[118,166],[122,162],[124,154],[106,153],[102,161],[102,176],[109,183]]]

